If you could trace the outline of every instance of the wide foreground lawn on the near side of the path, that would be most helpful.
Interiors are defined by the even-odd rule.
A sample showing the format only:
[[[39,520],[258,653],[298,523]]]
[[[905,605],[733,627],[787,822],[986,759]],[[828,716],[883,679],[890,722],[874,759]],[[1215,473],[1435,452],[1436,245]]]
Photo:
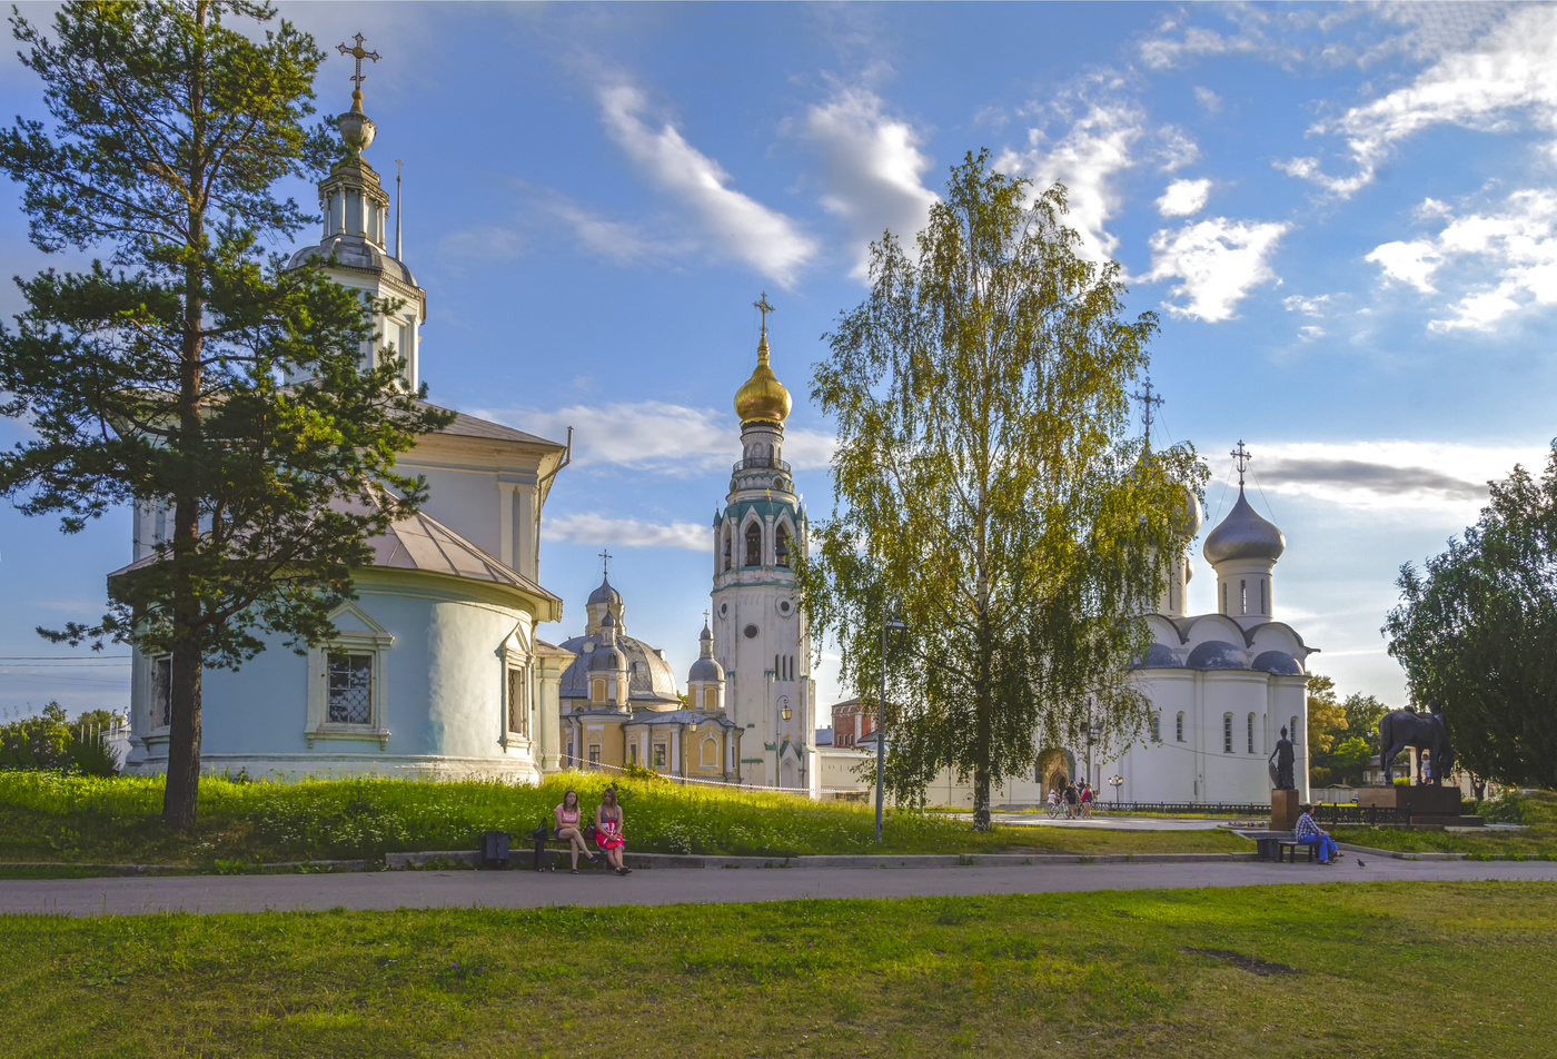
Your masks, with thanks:
[[[9,1056],[1549,1056],[1557,885],[0,917]]]

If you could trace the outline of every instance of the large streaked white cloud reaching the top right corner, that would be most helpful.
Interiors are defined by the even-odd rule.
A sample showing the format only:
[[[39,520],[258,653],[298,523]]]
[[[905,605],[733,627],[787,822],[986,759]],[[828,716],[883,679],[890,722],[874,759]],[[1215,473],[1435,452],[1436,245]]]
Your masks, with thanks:
[[[1280,162],[1278,168],[1344,198],[1373,179],[1395,143],[1432,125],[1495,131],[1527,112],[1534,123],[1557,132],[1554,53],[1557,8],[1515,8],[1484,37],[1445,55],[1409,86],[1313,126],[1313,132],[1345,137],[1353,176],[1327,176],[1313,157]]]

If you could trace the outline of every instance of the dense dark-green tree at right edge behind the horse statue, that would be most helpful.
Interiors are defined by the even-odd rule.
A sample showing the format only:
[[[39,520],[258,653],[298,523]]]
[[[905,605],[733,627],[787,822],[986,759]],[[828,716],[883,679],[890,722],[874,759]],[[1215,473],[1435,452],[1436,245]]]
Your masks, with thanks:
[[[1406,564],[1389,653],[1417,702],[1443,709],[1460,768],[1557,786],[1557,449],[1515,466],[1476,525],[1423,568]]]

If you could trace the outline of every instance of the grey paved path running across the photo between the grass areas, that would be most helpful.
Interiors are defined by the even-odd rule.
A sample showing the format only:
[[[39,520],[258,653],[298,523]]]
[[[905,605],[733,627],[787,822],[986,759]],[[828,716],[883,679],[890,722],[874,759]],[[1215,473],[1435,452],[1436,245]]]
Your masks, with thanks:
[[[937,897],[1099,889],[1185,889],[1369,880],[1545,880],[1554,861],[1397,861],[1350,855],[1319,864],[1035,864],[875,871],[353,872],[174,875],[0,881],[0,913],[137,916],[325,908],[539,908],[548,905],[733,903],[822,897]]]

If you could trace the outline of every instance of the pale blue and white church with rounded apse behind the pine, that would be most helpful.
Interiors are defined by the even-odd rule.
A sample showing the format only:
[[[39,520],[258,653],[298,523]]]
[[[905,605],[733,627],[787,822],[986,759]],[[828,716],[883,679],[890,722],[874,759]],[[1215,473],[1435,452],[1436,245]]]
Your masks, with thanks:
[[[389,198],[361,151],[374,123],[353,92],[338,118],[346,156],[319,184],[324,237],[291,265],[325,271],[375,299],[383,346],[420,378],[427,296],[386,245]],[[395,218],[399,227],[399,216]],[[364,363],[380,355],[364,346]],[[374,539],[374,565],[353,572],[358,600],[335,615],[338,637],[297,656],[276,639],[238,671],[202,677],[202,766],[249,776],[395,774],[539,779],[559,768],[557,687],[571,654],[536,637],[562,617],[539,579],[540,515],[567,445],[458,414],[399,466],[428,500]],[[134,564],[156,561],[167,512],[134,512]],[[111,578],[115,575],[109,575]],[[162,772],[168,671],[132,654],[129,772]]]

